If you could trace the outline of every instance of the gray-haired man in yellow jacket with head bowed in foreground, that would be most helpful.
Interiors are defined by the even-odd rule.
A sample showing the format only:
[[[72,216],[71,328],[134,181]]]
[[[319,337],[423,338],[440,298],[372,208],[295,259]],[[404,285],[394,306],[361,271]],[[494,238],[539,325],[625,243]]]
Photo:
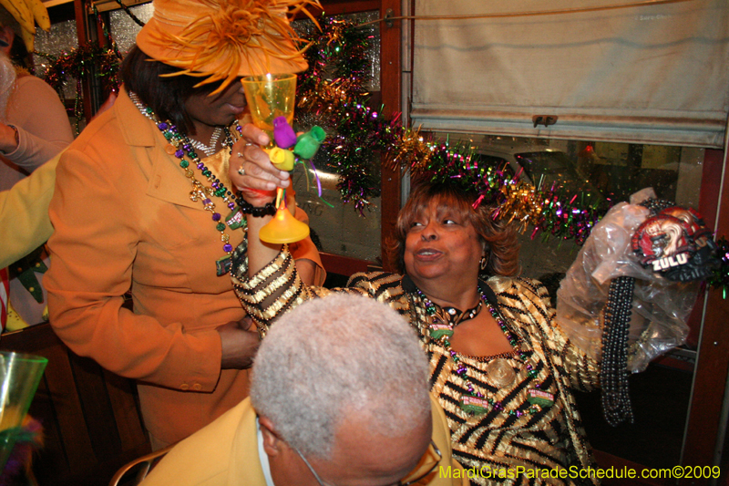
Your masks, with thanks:
[[[182,440],[143,484],[466,484],[427,377],[415,332],[387,305],[306,302],[263,340],[251,397]]]

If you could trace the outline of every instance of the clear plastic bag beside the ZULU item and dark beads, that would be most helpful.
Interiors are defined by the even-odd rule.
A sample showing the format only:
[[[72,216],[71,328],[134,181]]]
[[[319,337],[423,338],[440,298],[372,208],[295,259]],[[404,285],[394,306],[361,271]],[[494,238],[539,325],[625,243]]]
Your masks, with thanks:
[[[643,371],[652,359],[681,346],[699,284],[670,281],[644,268],[631,238],[651,212],[638,205],[655,197],[652,189],[621,202],[598,222],[580,249],[557,292],[557,323],[588,356],[601,358],[602,310],[611,279],[635,278],[629,330],[628,369]]]

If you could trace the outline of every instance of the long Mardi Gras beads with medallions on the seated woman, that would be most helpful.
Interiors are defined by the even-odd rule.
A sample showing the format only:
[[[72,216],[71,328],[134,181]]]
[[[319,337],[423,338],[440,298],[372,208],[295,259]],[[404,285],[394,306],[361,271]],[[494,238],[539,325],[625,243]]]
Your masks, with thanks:
[[[528,370],[530,378],[537,377],[539,372],[529,363],[529,357],[525,353],[521,346],[519,346],[519,338],[512,333],[507,326],[506,320],[498,312],[498,309],[488,302],[488,298],[479,289],[479,302],[483,303],[488,309],[489,314],[494,318],[498,327],[507,337],[508,343],[514,349],[513,355],[517,357]],[[429,323],[429,336],[443,346],[446,349],[447,355],[453,359],[453,363],[456,365],[456,373],[465,383],[467,388],[467,394],[461,395],[459,400],[460,408],[470,415],[482,415],[488,412],[488,408],[495,410],[502,410],[504,407],[500,401],[495,400],[491,397],[486,397],[483,393],[477,391],[474,387],[473,380],[468,377],[467,367],[461,362],[458,353],[451,347],[449,337],[453,336],[453,325],[442,318],[445,315],[442,310],[439,311],[439,305],[436,305],[431,301],[423,292],[416,287],[416,295],[420,298],[421,302],[426,307],[426,315],[430,318]],[[480,307],[478,307],[480,308]],[[473,315],[469,318],[473,318]],[[439,318],[440,317],[440,318]],[[465,320],[465,319],[461,319]],[[514,379],[516,379],[516,373],[513,368],[510,367],[508,361],[502,355],[498,355],[495,359],[492,359],[486,368],[487,376],[498,375],[492,385],[497,388],[503,388],[510,385]],[[508,415],[515,416],[517,418],[523,416],[526,413],[535,414],[541,410],[542,406],[550,406],[554,403],[554,396],[546,391],[539,389],[539,383],[535,384],[535,387],[529,389],[529,407],[526,411],[508,410]]]

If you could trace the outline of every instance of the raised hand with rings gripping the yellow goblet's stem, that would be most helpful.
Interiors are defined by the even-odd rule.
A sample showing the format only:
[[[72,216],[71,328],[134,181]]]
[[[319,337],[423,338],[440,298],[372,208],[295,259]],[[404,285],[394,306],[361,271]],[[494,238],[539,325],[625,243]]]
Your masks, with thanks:
[[[229,173],[243,198],[253,206],[263,206],[276,197],[276,188],[287,188],[291,179],[287,171],[276,169],[261,147],[270,142],[262,129],[243,126],[241,139],[232,147]]]

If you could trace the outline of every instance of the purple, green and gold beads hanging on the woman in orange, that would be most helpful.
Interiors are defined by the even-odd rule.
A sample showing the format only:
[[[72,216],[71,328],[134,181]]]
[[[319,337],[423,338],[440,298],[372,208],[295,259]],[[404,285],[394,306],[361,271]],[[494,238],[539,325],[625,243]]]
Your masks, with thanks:
[[[180,160],[180,168],[185,172],[185,176],[192,183],[192,191],[190,191],[190,201],[202,203],[202,207],[205,211],[212,213],[212,221],[215,223],[215,229],[221,233],[222,251],[226,253],[221,259],[215,262],[217,274],[227,274],[231,269],[231,253],[233,247],[231,245],[231,236],[226,233],[227,228],[236,230],[241,226],[245,225],[245,218],[241,212],[241,208],[236,201],[235,195],[232,191],[225,187],[222,181],[210,171],[193,147],[193,143],[187,135],[180,132],[175,125],[167,121],[160,121],[154,110],[145,106],[141,102],[136,93],[129,91],[129,98],[132,100],[134,105],[139,109],[142,115],[151,119],[155,126],[162,132],[165,140],[169,142],[167,146],[167,153],[173,155]],[[241,126],[238,124],[238,120],[234,122],[235,129],[239,134],[242,132]],[[231,130],[225,127],[222,129],[225,133],[225,140],[223,140],[223,147],[232,149],[233,140],[231,136]],[[215,141],[217,144],[217,140]],[[187,159],[186,159],[187,158]],[[188,160],[189,159],[189,160]],[[190,169],[190,161],[198,168],[202,177],[206,181],[210,182],[210,186],[204,185],[196,177],[195,173]],[[215,211],[215,202],[210,199],[212,196],[220,198],[222,202],[227,204],[228,209],[231,210],[231,214],[222,219],[221,213]],[[226,226],[227,225],[227,226]]]

